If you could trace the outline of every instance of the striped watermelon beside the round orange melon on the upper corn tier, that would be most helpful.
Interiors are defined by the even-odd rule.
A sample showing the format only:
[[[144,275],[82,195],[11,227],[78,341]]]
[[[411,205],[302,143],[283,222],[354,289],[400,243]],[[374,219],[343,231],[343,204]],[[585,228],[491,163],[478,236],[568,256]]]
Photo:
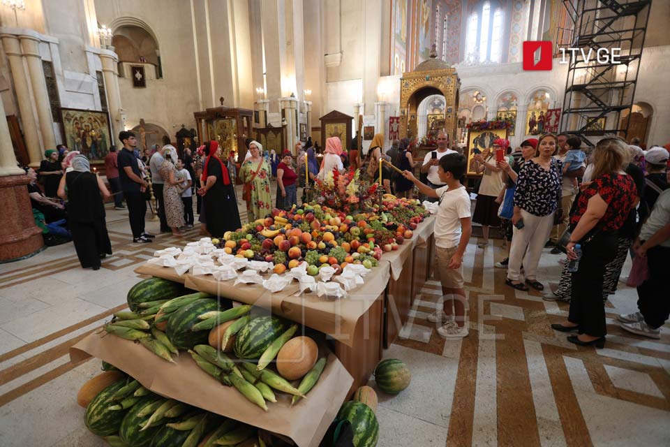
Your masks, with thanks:
[[[288,321],[276,316],[261,316],[251,320],[237,332],[234,352],[239,358],[257,359],[265,349],[289,327]]]

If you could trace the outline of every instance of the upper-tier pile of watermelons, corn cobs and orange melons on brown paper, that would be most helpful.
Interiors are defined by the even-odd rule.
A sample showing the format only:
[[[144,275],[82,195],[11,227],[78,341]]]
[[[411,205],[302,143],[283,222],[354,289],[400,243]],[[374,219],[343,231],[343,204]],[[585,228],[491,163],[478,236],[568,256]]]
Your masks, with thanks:
[[[266,401],[276,402],[273,390],[292,395],[295,404],[318,381],[326,358],[318,358],[310,337],[294,337],[297,324],[274,316],[252,318],[250,305],[232,307],[230,300],[207,293],[174,296],[179,293],[183,288],[172,281],[144,279],[128,291],[132,310],[114,314],[105,330],[139,341],[170,362],[179,349],[188,350],[200,369],[265,411]],[[163,299],[156,300],[159,296]],[[271,363],[277,372],[269,369]],[[289,381],[298,379],[295,388]]]

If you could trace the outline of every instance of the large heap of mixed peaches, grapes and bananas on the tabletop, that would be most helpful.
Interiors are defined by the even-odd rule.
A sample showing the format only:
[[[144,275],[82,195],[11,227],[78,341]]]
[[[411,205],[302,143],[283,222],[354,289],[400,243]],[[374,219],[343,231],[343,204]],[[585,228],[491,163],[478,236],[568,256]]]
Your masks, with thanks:
[[[227,254],[274,263],[281,274],[302,261],[315,276],[327,265],[341,272],[350,263],[366,268],[377,265],[385,251],[397,250],[429,215],[419,200],[385,194],[382,205],[355,214],[321,205],[273,210],[265,219],[228,231],[223,240],[212,240]]]

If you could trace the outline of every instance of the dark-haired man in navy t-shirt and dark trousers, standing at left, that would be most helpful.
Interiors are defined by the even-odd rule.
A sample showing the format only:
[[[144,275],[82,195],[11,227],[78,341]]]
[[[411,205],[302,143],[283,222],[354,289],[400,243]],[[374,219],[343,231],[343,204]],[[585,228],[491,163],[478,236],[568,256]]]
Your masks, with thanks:
[[[147,191],[147,182],[142,179],[140,165],[137,164],[137,158],[133,153],[133,149],[137,147],[135,133],[121,131],[119,140],[124,143],[124,148],[117,156],[117,166],[119,166],[121,190],[124,191],[126,197],[128,220],[131,221],[131,230],[133,230],[133,242],[137,244],[151,242],[151,237],[154,235],[144,232],[144,216],[147,214],[144,191]]]

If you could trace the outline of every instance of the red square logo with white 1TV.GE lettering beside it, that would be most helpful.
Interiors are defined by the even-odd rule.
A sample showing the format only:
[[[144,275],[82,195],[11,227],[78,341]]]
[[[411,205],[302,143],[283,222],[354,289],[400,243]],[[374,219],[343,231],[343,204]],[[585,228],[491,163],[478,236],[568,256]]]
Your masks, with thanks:
[[[596,61],[598,64],[621,64],[620,48],[559,48],[559,64],[567,64],[568,57],[575,59],[581,55],[581,61],[588,64],[590,61]],[[569,55],[568,55],[569,53]],[[553,50],[551,41],[525,41],[523,42],[523,70],[524,71],[547,71],[551,70],[553,64]]]

